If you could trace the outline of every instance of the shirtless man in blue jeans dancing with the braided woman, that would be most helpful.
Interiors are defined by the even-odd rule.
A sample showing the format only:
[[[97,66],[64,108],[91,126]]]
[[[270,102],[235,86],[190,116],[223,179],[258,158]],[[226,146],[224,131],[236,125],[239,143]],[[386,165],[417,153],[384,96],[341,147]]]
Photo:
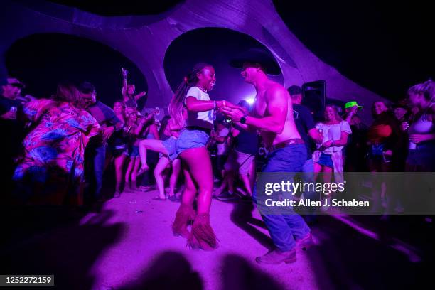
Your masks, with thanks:
[[[268,64],[264,58],[254,56],[242,63],[242,77],[257,91],[252,114],[232,107],[221,110],[238,126],[261,134],[269,148],[262,172],[299,172],[306,161],[306,147],[294,124],[291,97],[282,85],[267,78]],[[257,199],[257,188],[254,188],[254,199]],[[280,215],[262,213],[262,218],[276,249],[257,257],[259,264],[295,262],[296,243],[298,247],[311,244],[308,225],[293,210]]]

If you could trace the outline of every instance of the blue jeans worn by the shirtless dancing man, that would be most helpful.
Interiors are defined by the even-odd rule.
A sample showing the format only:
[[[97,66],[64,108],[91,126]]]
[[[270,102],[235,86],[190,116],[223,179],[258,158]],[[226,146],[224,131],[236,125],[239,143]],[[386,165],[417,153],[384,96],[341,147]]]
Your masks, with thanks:
[[[262,172],[301,172],[306,161],[306,147],[304,144],[288,145],[276,149],[267,155]],[[254,186],[254,201],[257,201],[257,186]],[[296,241],[310,232],[310,228],[300,215],[262,215],[264,223],[269,230],[274,245],[283,252],[296,247]]]

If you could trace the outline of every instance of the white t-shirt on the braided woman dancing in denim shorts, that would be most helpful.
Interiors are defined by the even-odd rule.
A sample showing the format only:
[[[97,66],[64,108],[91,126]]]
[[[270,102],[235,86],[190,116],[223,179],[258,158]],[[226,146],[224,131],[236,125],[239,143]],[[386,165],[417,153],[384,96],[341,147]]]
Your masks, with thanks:
[[[204,92],[199,87],[190,87],[186,94],[188,97],[195,97],[200,101],[210,101],[210,97],[207,92]],[[186,99],[184,102],[186,103]],[[213,129],[213,109],[205,112],[190,112],[188,111],[188,119],[186,120],[186,127],[198,126],[206,129]]]

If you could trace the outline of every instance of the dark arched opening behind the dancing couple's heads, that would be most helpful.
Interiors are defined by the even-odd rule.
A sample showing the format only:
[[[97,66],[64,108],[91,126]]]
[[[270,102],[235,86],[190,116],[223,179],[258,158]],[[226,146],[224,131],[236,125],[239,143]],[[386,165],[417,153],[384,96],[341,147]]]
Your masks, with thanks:
[[[252,36],[227,28],[198,28],[178,36],[166,50],[164,68],[166,79],[175,92],[184,75],[195,63],[214,66],[216,86],[210,92],[215,100],[238,102],[255,96],[252,85],[243,82],[240,70],[230,67],[230,60],[248,48],[264,48]],[[283,83],[282,73],[272,79]]]

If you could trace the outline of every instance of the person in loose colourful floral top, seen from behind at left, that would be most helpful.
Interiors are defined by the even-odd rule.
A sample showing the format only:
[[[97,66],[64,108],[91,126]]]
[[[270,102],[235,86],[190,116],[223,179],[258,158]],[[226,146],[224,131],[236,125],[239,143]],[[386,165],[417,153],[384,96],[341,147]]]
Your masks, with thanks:
[[[58,85],[51,100],[28,102],[23,108],[33,130],[23,141],[24,158],[14,180],[31,193],[27,203],[82,204],[83,155],[100,125],[85,111],[73,85]]]

